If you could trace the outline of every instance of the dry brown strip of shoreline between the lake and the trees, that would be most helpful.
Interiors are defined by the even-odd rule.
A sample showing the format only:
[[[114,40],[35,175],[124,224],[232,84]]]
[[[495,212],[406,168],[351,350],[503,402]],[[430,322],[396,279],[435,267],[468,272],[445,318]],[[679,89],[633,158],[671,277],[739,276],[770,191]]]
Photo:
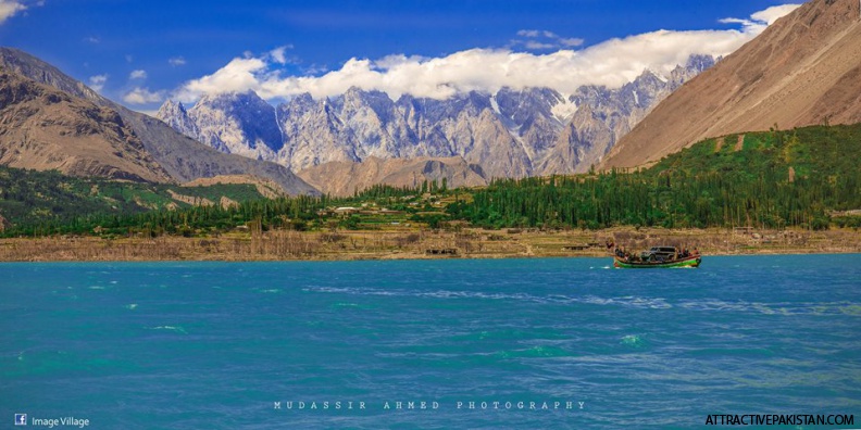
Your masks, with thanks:
[[[861,231],[834,229],[274,230],[212,237],[46,237],[0,239],[0,262],[277,262],[607,257],[613,242],[697,248],[708,256],[861,253]]]

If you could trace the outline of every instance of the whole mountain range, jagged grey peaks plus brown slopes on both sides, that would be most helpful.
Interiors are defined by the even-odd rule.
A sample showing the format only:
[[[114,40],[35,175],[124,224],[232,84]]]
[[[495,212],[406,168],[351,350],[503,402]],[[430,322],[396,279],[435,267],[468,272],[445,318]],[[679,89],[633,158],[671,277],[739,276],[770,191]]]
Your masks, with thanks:
[[[333,194],[647,165],[709,137],[861,122],[860,9],[812,0],[720,62],[692,55],[615,89],[392,100],[351,88],[278,105],[249,91],[169,100],[158,119],[0,48],[0,164],[157,182],[249,175]]]

